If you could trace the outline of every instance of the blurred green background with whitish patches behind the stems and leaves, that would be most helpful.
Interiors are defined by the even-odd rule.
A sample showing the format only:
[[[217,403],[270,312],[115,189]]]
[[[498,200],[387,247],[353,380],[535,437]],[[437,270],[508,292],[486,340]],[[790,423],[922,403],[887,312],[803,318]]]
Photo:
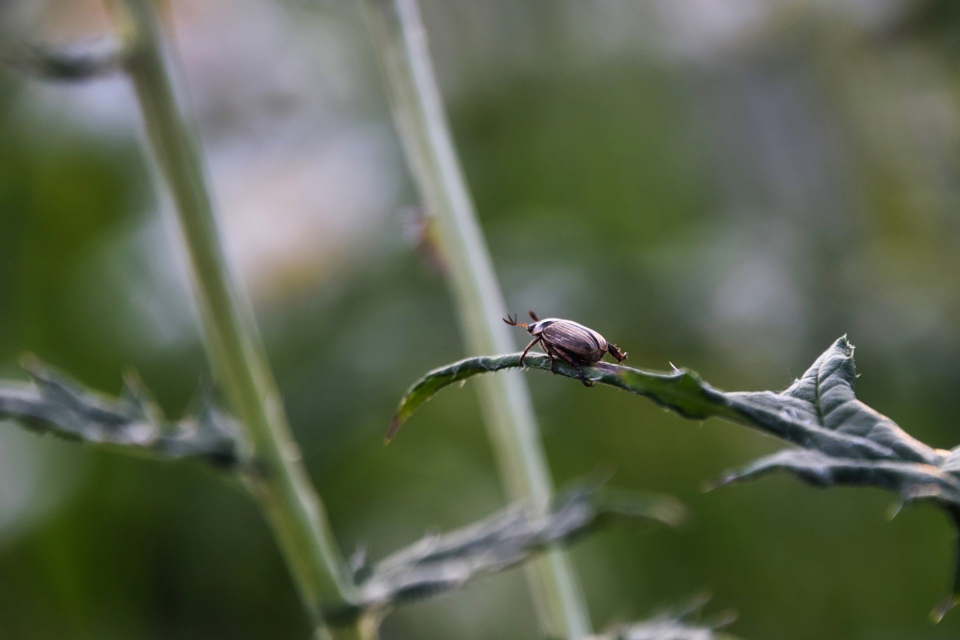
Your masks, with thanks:
[[[859,395],[960,441],[960,11],[954,0],[422,0],[513,311],[580,320],[635,367],[780,389],[848,333]],[[400,394],[464,356],[358,3],[166,5],[231,259],[342,547],[382,557],[504,502],[468,384],[389,448]],[[0,3],[4,42],[108,29],[99,0]],[[122,78],[0,71],[0,369],[36,353],[171,415],[206,370],[182,256]],[[161,192],[159,192],[161,193]],[[519,332],[517,332],[519,334]],[[517,341],[522,336],[517,335]],[[519,342],[517,343],[519,344]],[[681,532],[573,556],[598,626],[708,590],[748,640],[946,639],[928,507],[777,477],[740,427],[531,373],[558,483],[681,497]],[[386,639],[532,638],[522,572],[391,615]],[[0,429],[0,637],[306,638],[253,503],[197,465]]]

